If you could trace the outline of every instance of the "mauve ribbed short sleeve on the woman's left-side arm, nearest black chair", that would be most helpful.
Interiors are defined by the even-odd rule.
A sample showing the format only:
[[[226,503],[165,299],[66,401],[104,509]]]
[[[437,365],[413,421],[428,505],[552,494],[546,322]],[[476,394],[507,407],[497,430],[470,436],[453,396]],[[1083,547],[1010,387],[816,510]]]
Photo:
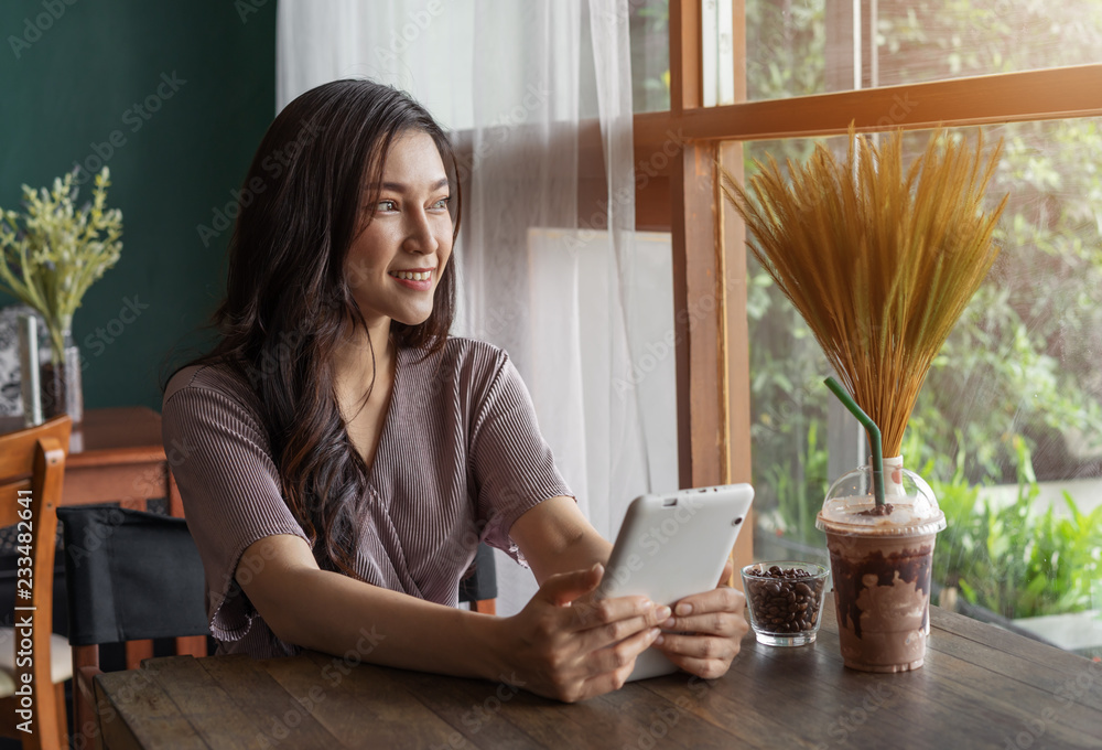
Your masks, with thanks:
[[[162,439],[203,559],[210,632],[223,642],[238,641],[257,617],[235,580],[241,554],[268,536],[306,535],[283,502],[255,415],[231,390],[172,385],[162,405]]]

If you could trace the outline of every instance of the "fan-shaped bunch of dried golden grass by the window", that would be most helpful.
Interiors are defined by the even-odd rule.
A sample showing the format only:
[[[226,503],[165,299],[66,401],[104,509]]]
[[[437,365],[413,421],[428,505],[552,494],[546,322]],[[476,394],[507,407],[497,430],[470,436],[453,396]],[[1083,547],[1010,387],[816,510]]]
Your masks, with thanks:
[[[844,162],[819,144],[802,167],[755,162],[744,190],[723,193],[746,222],[750,250],[803,315],[857,404],[898,456],[930,363],[998,254],[1006,205],[982,207],[1002,140],[983,158],[934,132],[903,165],[903,132],[878,148],[850,130]]]

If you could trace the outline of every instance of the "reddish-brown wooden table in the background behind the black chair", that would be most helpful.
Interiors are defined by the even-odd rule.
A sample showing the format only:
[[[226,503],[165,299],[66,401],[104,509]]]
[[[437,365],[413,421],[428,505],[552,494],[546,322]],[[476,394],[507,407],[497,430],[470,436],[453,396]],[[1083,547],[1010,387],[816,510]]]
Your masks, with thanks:
[[[0,432],[21,429],[22,417],[0,419]],[[186,447],[177,447],[183,456]],[[184,514],[170,460],[161,444],[161,415],[144,406],[88,409],[69,438],[63,505],[119,502],[145,508],[168,497],[172,515]]]

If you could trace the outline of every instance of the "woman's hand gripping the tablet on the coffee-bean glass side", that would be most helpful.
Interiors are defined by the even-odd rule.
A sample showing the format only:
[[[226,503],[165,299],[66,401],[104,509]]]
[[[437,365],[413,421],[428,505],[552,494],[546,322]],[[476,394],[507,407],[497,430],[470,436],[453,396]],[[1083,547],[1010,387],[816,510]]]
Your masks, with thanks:
[[[738,654],[743,636],[749,631],[743,617],[746,597],[726,585],[733,570],[734,565],[727,560],[717,588],[685,597],[674,606],[674,617],[661,623],[662,630],[690,635],[662,633],[655,641],[655,647],[667,658],[705,679],[726,674],[731,661]]]

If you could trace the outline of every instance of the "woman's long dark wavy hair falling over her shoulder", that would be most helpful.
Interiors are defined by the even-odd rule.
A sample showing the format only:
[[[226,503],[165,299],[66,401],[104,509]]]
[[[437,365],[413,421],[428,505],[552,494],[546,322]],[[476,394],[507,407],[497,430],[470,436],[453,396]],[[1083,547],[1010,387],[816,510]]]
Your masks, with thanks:
[[[370,222],[360,207],[382,182],[395,139],[429,135],[451,183],[458,235],[460,185],[447,136],[406,94],[370,81],[337,81],[289,104],[268,128],[239,200],[226,299],[212,325],[222,339],[190,364],[231,367],[257,395],[283,499],[323,568],[353,574],[367,467],[336,401],[331,355],[349,324],[367,330],[345,256]],[[455,311],[454,264],[440,276],[432,314],[392,321],[399,347],[444,345]],[[355,274],[352,274],[355,277]],[[374,375],[372,375],[374,384]]]

